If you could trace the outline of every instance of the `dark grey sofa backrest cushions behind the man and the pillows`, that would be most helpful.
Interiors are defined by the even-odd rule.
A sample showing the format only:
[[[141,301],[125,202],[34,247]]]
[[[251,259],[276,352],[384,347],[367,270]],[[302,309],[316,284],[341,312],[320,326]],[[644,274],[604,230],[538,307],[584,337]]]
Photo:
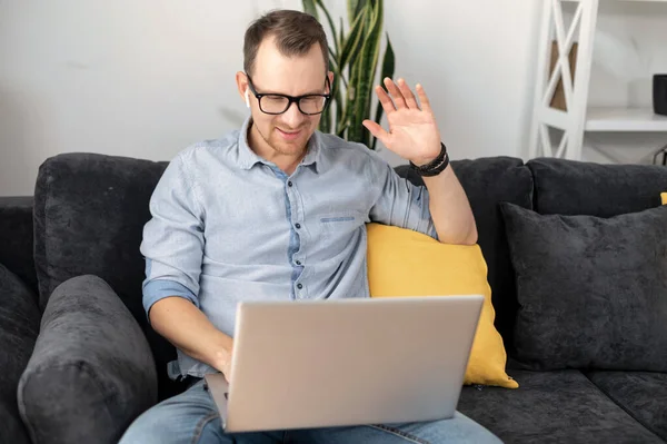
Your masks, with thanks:
[[[510,157],[452,162],[472,207],[479,245],[488,265],[496,326],[508,353],[517,309],[515,273],[498,203],[539,213],[614,216],[659,205],[667,168],[605,166],[558,159],[524,165]],[[167,162],[96,154],[49,158],[34,195],[34,265],[43,308],[64,280],[93,274],[107,280],[135,315],[158,366],[160,397],[181,387],[167,377],[175,348],[148,325],[141,302],[145,263],[139,251],[149,199]],[[408,167],[399,175],[421,184]]]

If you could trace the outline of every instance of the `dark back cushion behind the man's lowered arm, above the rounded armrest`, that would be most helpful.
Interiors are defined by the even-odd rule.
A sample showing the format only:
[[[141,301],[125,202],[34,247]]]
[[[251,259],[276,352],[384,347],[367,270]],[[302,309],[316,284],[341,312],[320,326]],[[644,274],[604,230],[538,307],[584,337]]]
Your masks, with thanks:
[[[76,276],[94,275],[118,294],[143,328],[156,358],[160,399],[182,391],[169,379],[176,348],[148,324],[141,303],[145,260],[139,251],[150,196],[167,162],[97,154],[47,159],[34,190],[34,260],[40,305]]]

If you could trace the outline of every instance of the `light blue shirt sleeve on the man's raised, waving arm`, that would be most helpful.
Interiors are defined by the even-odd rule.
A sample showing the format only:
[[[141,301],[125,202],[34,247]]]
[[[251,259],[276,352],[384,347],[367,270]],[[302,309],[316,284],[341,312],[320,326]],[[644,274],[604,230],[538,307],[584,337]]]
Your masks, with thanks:
[[[389,164],[369,152],[370,180],[377,195],[370,209],[370,220],[411,229],[438,239],[429,210],[429,194],[398,176]]]

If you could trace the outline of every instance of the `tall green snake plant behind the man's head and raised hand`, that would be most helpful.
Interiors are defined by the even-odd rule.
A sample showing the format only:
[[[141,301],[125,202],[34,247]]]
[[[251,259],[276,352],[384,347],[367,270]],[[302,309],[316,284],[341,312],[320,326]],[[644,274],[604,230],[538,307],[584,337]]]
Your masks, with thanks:
[[[382,107],[374,98],[374,82],[380,59],[384,0],[348,0],[348,30],[344,20],[336,28],[323,0],[302,0],[303,10],[319,20],[323,12],[334,45],[329,45],[329,67],[334,71],[332,102],[320,120],[322,132],[336,134],[350,141],[362,142],[375,149],[377,139],[361,125],[370,119],[380,124]],[[394,77],[394,49],[387,36],[380,78]]]

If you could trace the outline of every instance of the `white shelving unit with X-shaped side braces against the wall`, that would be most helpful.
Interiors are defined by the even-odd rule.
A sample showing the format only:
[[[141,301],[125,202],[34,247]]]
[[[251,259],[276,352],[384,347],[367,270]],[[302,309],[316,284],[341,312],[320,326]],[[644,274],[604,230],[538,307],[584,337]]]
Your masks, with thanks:
[[[667,0],[615,1],[667,3]],[[569,28],[565,26],[563,17],[565,2],[576,3]],[[545,0],[530,128],[530,158],[558,157],[580,160],[586,132],[665,132],[667,142],[667,117],[655,115],[653,108],[588,107],[588,83],[598,8],[599,0]],[[558,60],[551,72],[552,41],[556,41],[558,47]],[[569,53],[575,41],[578,42],[578,49],[576,73],[573,79]],[[567,111],[551,108],[551,98],[560,79],[563,79]],[[564,131],[557,147],[551,145],[549,128]]]

